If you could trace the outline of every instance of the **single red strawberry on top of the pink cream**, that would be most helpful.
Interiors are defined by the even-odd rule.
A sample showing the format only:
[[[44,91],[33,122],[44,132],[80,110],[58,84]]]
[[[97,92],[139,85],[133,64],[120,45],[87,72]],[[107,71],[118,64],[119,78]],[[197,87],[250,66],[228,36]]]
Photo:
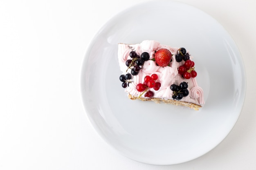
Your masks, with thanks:
[[[155,62],[158,66],[165,67],[171,62],[171,52],[168,49],[159,49],[155,53]]]

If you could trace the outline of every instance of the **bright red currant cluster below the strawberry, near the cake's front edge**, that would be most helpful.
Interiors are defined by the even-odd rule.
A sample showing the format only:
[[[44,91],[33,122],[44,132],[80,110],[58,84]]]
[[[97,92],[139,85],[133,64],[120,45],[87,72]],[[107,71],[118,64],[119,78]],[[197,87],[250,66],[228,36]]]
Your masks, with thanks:
[[[154,92],[148,91],[148,88],[153,88],[155,91],[158,91],[159,88],[161,87],[161,83],[155,82],[155,80],[157,80],[157,79],[158,79],[157,74],[152,74],[151,76],[146,75],[144,77],[144,83],[137,84],[137,86],[136,86],[137,91],[143,92],[141,95],[143,95],[145,92],[147,92],[145,94],[145,97],[149,97],[149,98],[153,97]],[[141,95],[139,95],[139,97],[141,97]]]

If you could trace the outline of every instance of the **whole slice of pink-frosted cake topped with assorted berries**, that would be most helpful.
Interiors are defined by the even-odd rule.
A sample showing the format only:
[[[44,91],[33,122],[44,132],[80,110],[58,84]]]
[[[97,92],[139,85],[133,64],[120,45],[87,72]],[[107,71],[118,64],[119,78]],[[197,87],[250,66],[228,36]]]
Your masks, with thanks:
[[[193,57],[185,48],[145,40],[118,44],[120,81],[130,99],[164,102],[198,110],[203,90],[196,81]]]

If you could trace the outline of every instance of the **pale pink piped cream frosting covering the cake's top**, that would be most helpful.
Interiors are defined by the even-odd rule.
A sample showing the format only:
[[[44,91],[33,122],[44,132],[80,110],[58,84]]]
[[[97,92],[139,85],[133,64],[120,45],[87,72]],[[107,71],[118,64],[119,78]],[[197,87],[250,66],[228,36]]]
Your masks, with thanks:
[[[154,58],[155,51],[159,49],[168,49],[173,54],[172,62],[170,66],[161,67],[151,59]],[[127,70],[126,60],[131,59],[129,56],[130,51],[135,51],[138,55],[141,55],[143,52],[148,52],[150,55],[150,60],[144,62],[143,68],[135,76],[132,76],[129,86],[126,87],[126,92],[130,93],[132,96],[139,96],[142,92],[137,91],[136,86],[139,83],[144,82],[144,77],[146,75],[152,75],[153,73],[158,75],[156,82],[161,83],[161,87],[158,91],[155,91],[153,88],[150,88],[150,91],[154,92],[153,97],[162,98],[162,99],[173,99],[173,91],[171,91],[171,84],[179,85],[181,82],[187,82],[189,87],[189,96],[183,97],[180,101],[190,102],[198,105],[204,104],[204,93],[201,87],[198,86],[196,79],[184,79],[180,74],[178,74],[178,67],[184,64],[182,62],[176,62],[175,54],[177,54],[179,48],[171,47],[167,45],[162,45],[154,40],[145,40],[140,44],[118,44],[118,60],[120,69],[123,74],[130,73],[130,69]],[[187,51],[189,53],[189,51]],[[190,59],[193,59],[190,56]],[[195,64],[196,69],[196,64]],[[143,95],[141,97],[144,97]]]

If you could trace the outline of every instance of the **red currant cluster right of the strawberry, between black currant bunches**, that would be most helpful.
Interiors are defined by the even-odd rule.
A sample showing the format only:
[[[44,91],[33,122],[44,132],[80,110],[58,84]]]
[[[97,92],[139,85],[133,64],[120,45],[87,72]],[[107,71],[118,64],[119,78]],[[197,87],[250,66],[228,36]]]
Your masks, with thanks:
[[[197,73],[195,71],[195,63],[191,60],[186,60],[185,63],[178,68],[178,72],[185,79],[190,79],[191,77],[196,77]]]

